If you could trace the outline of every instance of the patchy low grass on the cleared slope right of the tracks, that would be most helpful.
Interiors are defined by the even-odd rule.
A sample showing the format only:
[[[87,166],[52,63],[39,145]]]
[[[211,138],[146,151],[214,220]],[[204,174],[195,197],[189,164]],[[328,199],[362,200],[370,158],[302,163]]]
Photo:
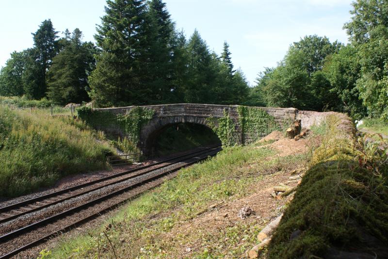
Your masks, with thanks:
[[[179,247],[200,242],[195,258],[240,256],[256,242],[259,225],[236,223],[216,234],[169,233],[202,213],[211,204],[249,195],[264,172],[300,165],[302,155],[277,158],[276,152],[254,146],[231,147],[216,157],[182,169],[173,180],[148,191],[125,205],[120,212],[87,235],[64,240],[45,258],[174,258]],[[107,240],[113,244],[113,248]]]

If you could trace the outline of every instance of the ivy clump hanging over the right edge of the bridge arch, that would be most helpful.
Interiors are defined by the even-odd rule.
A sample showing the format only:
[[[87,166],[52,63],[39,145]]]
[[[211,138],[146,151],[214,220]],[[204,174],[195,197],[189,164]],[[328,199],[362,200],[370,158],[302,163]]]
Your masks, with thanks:
[[[238,143],[236,133],[236,124],[230,119],[229,114],[224,110],[224,117],[215,119],[210,117],[206,119],[207,124],[220,138],[223,146],[233,146]]]

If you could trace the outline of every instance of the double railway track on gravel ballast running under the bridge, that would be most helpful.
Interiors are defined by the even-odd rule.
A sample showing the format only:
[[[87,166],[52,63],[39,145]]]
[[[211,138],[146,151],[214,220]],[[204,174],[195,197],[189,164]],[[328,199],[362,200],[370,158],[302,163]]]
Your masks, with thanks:
[[[221,150],[212,146],[0,208],[0,259],[97,217]]]

